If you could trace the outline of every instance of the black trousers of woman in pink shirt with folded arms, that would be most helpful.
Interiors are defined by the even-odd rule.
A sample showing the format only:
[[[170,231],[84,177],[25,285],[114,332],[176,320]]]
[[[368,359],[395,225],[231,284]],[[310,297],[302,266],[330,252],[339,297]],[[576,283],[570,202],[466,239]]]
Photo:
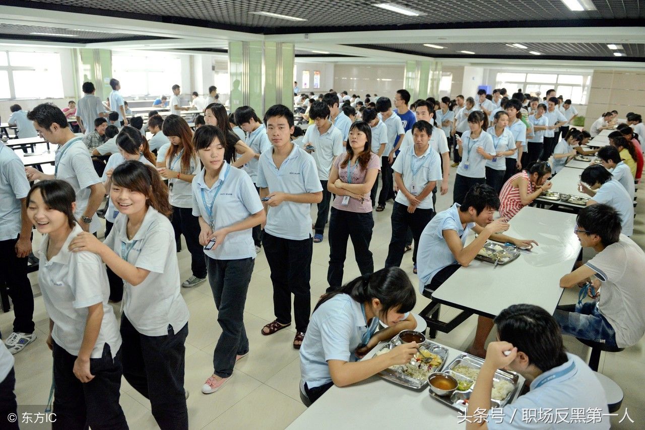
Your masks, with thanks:
[[[329,290],[342,286],[347,241],[350,238],[361,275],[373,273],[374,259],[370,251],[373,228],[372,212],[361,213],[332,208],[329,222],[329,268],[327,269]]]

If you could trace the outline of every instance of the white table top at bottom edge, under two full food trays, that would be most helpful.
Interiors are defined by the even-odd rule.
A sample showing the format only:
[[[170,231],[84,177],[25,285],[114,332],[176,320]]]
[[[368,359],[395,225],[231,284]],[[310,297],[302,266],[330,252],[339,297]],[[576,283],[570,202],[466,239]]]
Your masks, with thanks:
[[[462,353],[447,348],[448,362]],[[372,357],[379,349],[380,345],[366,358]],[[520,384],[523,383],[524,378],[520,376]],[[349,387],[331,387],[287,429],[402,429],[423,428],[429,424],[436,429],[464,429],[465,421],[459,424],[460,415],[455,409],[431,398],[428,388],[415,391],[388,382],[381,376],[372,376]]]

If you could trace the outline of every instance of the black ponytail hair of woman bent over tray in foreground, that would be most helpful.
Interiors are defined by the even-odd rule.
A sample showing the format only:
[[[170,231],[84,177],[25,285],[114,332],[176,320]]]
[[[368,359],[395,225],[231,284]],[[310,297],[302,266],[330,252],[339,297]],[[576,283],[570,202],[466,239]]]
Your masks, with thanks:
[[[339,294],[349,295],[361,304],[372,302],[373,298],[378,298],[383,306],[381,315],[379,315],[381,320],[384,320],[381,317],[386,315],[390,309],[406,313],[412,311],[417,303],[417,293],[414,291],[410,278],[401,268],[397,267],[384,268],[351,280],[336,291],[323,295],[313,311],[315,312],[321,304]]]

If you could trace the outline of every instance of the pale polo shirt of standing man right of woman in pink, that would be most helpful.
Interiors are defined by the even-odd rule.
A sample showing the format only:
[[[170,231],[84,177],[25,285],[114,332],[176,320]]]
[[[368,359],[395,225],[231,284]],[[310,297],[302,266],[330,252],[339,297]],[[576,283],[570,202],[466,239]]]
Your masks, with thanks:
[[[408,130],[409,132],[410,130]],[[414,146],[406,146],[392,164],[392,169],[401,173],[405,188],[413,195],[421,194],[428,182],[441,181],[441,157],[437,150],[428,144],[428,149],[421,157],[417,156]],[[396,202],[410,206],[410,201],[403,193],[397,193]],[[434,209],[432,193],[421,200],[418,209]]]

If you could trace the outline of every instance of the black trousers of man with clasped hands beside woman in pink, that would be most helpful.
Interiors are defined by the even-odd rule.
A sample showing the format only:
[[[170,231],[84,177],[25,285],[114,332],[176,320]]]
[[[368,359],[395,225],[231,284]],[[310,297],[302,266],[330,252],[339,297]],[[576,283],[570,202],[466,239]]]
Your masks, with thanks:
[[[392,239],[390,239],[390,249],[388,257],[385,259],[385,267],[401,266],[403,252],[405,248],[406,236],[408,229],[412,230],[414,239],[414,251],[412,251],[412,261],[417,263],[417,249],[419,248],[419,238],[423,229],[428,222],[432,220],[435,212],[432,209],[415,209],[413,213],[408,212],[408,206],[399,202],[394,202],[392,208]]]

